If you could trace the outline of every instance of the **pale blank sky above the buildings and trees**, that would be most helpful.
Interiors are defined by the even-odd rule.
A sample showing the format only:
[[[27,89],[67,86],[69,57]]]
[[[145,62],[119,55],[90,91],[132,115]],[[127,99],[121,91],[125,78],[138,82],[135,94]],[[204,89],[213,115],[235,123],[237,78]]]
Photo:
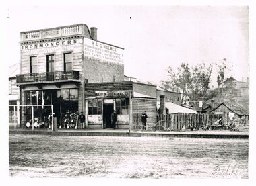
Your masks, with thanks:
[[[9,7],[9,65],[20,62],[20,32],[69,24],[98,28],[98,40],[125,48],[125,75],[160,81],[181,62],[226,58],[229,75],[249,77],[248,7]],[[216,86],[216,73],[212,77]]]

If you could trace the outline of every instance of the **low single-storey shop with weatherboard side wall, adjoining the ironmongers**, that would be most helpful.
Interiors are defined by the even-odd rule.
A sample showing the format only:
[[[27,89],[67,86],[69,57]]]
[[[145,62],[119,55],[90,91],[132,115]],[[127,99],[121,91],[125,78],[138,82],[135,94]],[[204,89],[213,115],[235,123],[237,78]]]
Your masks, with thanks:
[[[133,117],[143,111],[148,124],[156,123],[156,86],[129,81],[88,83],[85,85],[86,125],[88,128],[110,128],[111,114],[117,113],[118,128],[129,128]]]

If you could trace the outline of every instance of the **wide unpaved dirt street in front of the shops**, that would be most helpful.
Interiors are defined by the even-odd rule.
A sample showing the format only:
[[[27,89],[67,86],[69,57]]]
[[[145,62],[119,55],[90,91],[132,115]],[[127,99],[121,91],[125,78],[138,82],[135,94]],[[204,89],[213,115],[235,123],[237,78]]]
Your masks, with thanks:
[[[247,178],[247,139],[9,135],[13,177]]]

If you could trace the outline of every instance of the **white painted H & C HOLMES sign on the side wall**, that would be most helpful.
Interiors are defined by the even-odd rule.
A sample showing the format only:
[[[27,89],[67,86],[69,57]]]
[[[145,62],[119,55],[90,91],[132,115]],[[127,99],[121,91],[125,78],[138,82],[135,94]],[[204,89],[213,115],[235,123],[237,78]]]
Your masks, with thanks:
[[[105,62],[123,64],[123,49],[84,38],[85,56]]]

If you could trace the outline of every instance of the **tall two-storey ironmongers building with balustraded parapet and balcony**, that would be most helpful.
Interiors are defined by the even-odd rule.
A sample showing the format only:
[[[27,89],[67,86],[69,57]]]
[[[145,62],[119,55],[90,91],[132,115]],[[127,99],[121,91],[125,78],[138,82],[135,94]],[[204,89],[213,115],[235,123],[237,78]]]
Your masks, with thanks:
[[[85,111],[85,83],[123,81],[123,48],[97,40],[97,28],[76,24],[20,33],[21,105],[54,105],[58,120],[68,109]],[[30,119],[22,109],[23,122]],[[49,113],[46,107],[35,117]],[[26,116],[27,115],[27,116]]]

